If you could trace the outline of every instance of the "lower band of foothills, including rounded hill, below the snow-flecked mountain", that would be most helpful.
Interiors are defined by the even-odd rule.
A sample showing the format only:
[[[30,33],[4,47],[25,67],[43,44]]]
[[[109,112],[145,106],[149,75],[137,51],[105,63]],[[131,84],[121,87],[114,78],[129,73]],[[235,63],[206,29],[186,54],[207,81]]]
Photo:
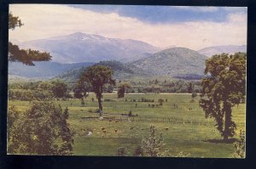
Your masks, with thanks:
[[[85,62],[61,64],[56,62],[35,62],[35,66],[27,66],[18,62],[9,63],[9,75],[27,78],[77,79],[78,74],[90,65],[108,65],[114,70],[117,78],[131,76],[177,76],[184,74],[202,75],[207,57],[189,48],[168,48],[151,56],[129,63],[116,60],[105,60],[97,63]]]

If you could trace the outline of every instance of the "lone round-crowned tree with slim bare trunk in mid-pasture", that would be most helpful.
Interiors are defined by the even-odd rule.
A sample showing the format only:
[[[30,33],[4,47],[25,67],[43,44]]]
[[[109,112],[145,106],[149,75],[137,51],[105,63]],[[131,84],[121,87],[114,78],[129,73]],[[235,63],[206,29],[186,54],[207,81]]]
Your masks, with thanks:
[[[96,93],[100,115],[102,115],[102,93],[104,92],[104,85],[115,85],[115,81],[113,80],[112,76],[113,70],[110,67],[103,65],[93,65],[84,70],[79,78],[79,84],[87,83],[91,90]]]

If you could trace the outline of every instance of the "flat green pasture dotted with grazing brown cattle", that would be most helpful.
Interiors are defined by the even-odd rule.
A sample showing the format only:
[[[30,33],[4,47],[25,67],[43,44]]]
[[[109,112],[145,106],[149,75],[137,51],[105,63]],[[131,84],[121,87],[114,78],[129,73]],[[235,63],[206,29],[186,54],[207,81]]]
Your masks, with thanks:
[[[154,99],[154,103],[141,102],[142,98]],[[103,99],[103,120],[93,118],[98,117],[93,93],[85,99],[84,106],[81,106],[79,99],[56,101],[62,109],[68,107],[68,122],[76,132],[74,155],[117,155],[119,148],[125,148],[128,155],[133,155],[142,138],[148,136],[150,124],[157,128],[158,133],[163,133],[163,150],[170,149],[173,155],[183,151],[191,157],[229,158],[234,152],[233,144],[211,141],[222,138],[214,127],[214,120],[205,118],[198,104],[199,97],[194,103],[190,103],[191,94],[177,93],[125,94],[124,99],[117,99],[117,94],[104,94]],[[162,107],[148,107],[148,104],[158,104],[158,99],[165,100]],[[26,110],[30,103],[11,100],[9,104]],[[173,104],[177,108],[174,109]],[[135,116],[124,115],[130,111]],[[232,115],[237,125],[236,133],[239,133],[240,128],[245,130],[245,104],[233,108]],[[106,133],[102,132],[102,127]]]

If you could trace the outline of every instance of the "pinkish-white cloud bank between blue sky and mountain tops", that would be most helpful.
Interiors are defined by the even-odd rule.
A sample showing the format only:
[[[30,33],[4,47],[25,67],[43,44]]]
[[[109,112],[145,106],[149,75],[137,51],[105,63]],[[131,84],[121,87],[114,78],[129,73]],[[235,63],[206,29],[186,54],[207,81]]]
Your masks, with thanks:
[[[214,45],[246,44],[247,14],[230,14],[224,23],[195,21],[148,24],[119,14],[101,14],[64,5],[10,5],[24,23],[9,32],[19,41],[68,35],[76,31],[114,38],[130,38],[157,47],[171,45],[200,49]]]

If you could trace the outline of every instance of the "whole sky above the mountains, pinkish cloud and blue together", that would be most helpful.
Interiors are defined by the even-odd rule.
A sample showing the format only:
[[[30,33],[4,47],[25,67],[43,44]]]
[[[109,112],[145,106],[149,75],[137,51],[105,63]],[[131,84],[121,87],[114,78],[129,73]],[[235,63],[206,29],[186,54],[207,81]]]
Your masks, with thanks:
[[[84,32],[159,48],[247,44],[245,7],[10,4],[9,11],[24,23],[9,31],[14,42]]]

